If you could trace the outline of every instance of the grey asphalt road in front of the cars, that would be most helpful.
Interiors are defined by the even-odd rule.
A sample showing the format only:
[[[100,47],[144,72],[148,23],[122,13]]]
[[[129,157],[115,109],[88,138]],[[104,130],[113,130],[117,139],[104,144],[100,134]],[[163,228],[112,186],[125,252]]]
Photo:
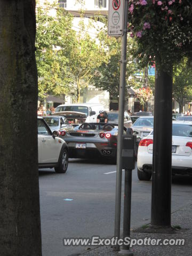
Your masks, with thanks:
[[[43,256],[86,251],[86,247],[63,246],[63,238],[114,235],[115,171],[115,165],[82,159],[70,159],[66,174],[39,171]],[[172,212],[191,203],[191,185],[191,178],[173,179]],[[150,222],[150,202],[151,181],[139,181],[134,170],[131,228]]]

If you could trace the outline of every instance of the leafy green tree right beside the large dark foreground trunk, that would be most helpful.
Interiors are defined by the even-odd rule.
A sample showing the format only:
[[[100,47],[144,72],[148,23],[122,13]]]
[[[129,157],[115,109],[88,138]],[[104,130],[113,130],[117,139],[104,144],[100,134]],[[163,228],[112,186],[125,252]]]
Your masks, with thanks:
[[[55,10],[55,17],[50,9]],[[52,9],[51,9],[52,10]],[[58,4],[37,7],[36,61],[39,97],[68,94],[71,79],[69,58],[75,44],[73,16]]]

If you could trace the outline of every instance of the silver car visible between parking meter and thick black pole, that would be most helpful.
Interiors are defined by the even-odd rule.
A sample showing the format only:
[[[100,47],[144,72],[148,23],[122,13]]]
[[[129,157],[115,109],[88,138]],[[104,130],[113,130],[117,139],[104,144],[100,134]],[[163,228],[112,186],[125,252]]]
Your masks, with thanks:
[[[153,130],[154,117],[153,116],[141,116],[139,117],[134,124],[132,129],[138,137],[146,137]]]

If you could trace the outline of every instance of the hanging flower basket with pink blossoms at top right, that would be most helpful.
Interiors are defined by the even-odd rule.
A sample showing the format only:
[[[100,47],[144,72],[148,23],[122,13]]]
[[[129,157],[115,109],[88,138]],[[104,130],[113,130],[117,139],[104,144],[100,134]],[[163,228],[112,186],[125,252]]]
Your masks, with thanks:
[[[168,71],[183,56],[192,57],[191,0],[130,0],[128,29],[138,42],[141,66]]]

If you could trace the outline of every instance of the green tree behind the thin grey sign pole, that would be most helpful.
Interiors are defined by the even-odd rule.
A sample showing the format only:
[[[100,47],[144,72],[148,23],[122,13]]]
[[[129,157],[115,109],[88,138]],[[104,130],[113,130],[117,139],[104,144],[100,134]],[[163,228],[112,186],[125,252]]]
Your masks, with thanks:
[[[107,25],[106,25],[107,26]],[[102,90],[107,90],[113,97],[118,97],[119,94],[119,78],[120,78],[120,62],[121,59],[121,38],[109,37],[107,35],[106,26],[99,31],[98,39],[101,47],[105,49],[105,58],[103,58],[101,65],[98,67],[97,72],[92,78],[92,83],[95,87]],[[133,77],[137,71],[137,65],[132,59],[133,39],[127,38],[127,66],[126,66],[126,89],[134,86],[135,79]],[[126,90],[127,92],[127,90]],[[126,93],[125,93],[126,95]]]

